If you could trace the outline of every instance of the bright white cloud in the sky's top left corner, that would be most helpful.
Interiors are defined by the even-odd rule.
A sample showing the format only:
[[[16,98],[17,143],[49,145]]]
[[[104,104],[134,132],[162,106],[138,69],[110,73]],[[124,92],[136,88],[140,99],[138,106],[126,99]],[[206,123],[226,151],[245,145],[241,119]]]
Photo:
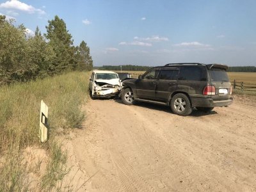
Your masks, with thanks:
[[[0,8],[20,10],[22,12],[27,12],[30,14],[32,14],[32,13],[39,13],[41,15],[45,14],[45,12],[43,10],[37,9],[31,5],[26,4],[26,3],[22,3],[18,0],[10,0],[10,1],[6,1],[5,3],[1,3]]]

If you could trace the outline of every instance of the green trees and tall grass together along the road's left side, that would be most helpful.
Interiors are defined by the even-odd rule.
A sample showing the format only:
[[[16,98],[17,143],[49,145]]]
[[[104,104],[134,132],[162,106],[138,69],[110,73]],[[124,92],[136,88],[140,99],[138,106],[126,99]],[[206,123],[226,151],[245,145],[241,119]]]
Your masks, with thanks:
[[[74,46],[58,16],[45,28],[30,35],[0,15],[0,191],[60,190],[69,169],[58,136],[85,117],[90,48]],[[38,138],[41,100],[49,106],[45,143]]]

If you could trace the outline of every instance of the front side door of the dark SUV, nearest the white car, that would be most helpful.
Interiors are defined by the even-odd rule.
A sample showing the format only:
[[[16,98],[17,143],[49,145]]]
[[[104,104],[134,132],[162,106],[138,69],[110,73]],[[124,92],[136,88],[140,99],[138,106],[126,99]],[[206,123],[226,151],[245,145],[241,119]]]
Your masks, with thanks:
[[[141,99],[156,99],[156,81],[160,68],[152,68],[136,83],[136,95]]]

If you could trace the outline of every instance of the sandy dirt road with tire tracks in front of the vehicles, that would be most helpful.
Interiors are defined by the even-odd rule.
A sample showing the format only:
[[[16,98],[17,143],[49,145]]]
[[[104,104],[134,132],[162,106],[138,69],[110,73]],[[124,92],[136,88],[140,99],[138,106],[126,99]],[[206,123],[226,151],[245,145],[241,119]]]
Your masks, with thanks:
[[[70,148],[81,191],[256,190],[255,97],[186,117],[120,100],[90,100],[86,113]]]

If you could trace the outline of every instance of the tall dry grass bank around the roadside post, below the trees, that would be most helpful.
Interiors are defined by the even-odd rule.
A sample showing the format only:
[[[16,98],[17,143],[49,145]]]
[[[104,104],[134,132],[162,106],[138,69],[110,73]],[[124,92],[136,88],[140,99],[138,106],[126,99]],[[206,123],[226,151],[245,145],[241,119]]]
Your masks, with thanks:
[[[89,75],[70,72],[0,87],[0,191],[50,191],[68,172],[67,155],[55,136],[65,129],[81,127],[81,105],[88,95]],[[42,99],[49,106],[46,143],[38,138]],[[27,148],[42,149],[47,158],[29,162],[24,156]],[[46,164],[44,172],[41,164]]]

